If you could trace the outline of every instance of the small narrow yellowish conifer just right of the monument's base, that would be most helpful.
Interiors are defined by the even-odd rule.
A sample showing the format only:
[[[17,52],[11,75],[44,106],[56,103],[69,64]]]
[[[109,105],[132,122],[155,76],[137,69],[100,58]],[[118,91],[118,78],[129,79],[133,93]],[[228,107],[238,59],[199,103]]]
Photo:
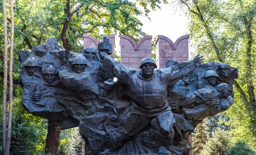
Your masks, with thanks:
[[[192,138],[192,150],[194,155],[199,155],[207,141],[206,126],[204,123],[200,123],[196,126],[195,131],[195,136]]]

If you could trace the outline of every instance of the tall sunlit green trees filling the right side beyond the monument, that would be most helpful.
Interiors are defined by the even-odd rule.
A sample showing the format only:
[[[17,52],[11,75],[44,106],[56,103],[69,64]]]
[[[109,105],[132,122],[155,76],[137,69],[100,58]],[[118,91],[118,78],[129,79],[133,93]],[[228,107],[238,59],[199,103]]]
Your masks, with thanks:
[[[234,138],[255,145],[255,0],[178,0],[190,17],[192,46],[207,61],[219,61],[239,68],[234,80],[235,102],[230,116]],[[237,140],[236,140],[237,141]]]

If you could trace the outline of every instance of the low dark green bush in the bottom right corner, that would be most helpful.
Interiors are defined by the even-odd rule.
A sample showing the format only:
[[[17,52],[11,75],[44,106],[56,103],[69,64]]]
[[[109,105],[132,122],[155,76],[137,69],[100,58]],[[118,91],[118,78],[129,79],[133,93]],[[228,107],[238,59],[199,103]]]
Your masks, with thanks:
[[[244,141],[238,141],[225,155],[256,155],[256,152]]]

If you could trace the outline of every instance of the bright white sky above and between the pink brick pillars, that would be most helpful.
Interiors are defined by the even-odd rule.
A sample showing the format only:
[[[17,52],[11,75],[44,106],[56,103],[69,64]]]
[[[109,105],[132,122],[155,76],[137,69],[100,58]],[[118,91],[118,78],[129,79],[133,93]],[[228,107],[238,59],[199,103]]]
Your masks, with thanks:
[[[189,34],[188,33],[188,17],[177,6],[174,8],[171,4],[161,4],[161,9],[151,11],[148,14],[151,20],[145,16],[137,18],[143,23],[142,31],[154,38],[157,35],[169,37],[173,42],[177,38]],[[140,10],[143,8],[139,5]],[[119,37],[116,37],[116,51],[120,51]]]

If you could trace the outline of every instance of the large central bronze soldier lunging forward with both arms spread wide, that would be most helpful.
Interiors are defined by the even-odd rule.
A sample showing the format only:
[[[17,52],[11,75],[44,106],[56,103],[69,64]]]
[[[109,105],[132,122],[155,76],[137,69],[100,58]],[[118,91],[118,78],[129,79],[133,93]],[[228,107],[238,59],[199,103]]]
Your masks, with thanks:
[[[115,75],[131,91],[131,108],[125,116],[122,116],[123,126],[109,136],[111,149],[121,147],[122,142],[152,124],[152,120],[157,122],[157,124],[153,123],[152,127],[158,131],[160,136],[172,139],[174,118],[167,100],[167,86],[189,75],[203,62],[202,57],[197,55],[193,61],[157,70],[154,70],[157,68],[155,61],[147,57],[140,63],[141,71],[136,71],[113,60],[105,52],[100,51],[100,57],[108,72]]]

